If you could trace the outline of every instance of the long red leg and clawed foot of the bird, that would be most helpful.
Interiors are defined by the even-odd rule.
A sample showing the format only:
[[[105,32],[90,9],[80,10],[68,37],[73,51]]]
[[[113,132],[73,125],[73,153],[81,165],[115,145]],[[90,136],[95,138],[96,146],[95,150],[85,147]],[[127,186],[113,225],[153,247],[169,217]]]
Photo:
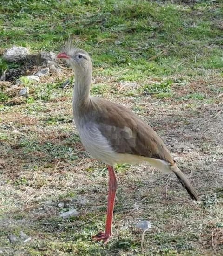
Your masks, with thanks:
[[[107,208],[107,219],[105,225],[105,232],[100,232],[98,235],[93,236],[92,238],[99,241],[104,240],[104,244],[112,237],[112,219],[113,219],[113,210],[115,202],[115,193],[118,187],[115,172],[113,166],[108,166],[109,174],[109,190],[108,190],[108,208]]]

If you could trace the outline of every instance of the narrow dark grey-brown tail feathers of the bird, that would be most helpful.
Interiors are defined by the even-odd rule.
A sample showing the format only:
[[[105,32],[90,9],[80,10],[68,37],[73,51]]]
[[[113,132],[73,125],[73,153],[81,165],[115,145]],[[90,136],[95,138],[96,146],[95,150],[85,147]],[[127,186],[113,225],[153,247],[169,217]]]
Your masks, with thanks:
[[[190,197],[197,201],[197,203],[200,203],[200,198],[195,191],[195,189],[190,184],[190,181],[187,179],[187,177],[184,175],[184,173],[181,172],[181,170],[177,166],[171,166],[172,172],[177,176],[180,183],[183,185],[183,187],[186,189]]]

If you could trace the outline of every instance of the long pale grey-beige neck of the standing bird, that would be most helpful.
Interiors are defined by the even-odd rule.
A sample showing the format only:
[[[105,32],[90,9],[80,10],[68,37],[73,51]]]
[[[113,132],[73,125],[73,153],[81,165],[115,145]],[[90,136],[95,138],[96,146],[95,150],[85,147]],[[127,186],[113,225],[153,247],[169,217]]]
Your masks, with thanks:
[[[73,113],[81,115],[90,101],[90,87],[92,82],[92,65],[83,73],[74,70],[75,84],[73,88]]]

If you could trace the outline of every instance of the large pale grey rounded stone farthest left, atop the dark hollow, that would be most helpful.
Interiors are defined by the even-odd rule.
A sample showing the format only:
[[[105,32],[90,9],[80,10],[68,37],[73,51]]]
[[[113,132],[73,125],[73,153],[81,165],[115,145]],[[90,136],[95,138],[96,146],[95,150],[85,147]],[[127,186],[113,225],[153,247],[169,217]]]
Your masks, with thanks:
[[[26,47],[13,46],[10,49],[7,49],[3,54],[3,59],[7,62],[20,62],[26,59],[26,56],[29,54],[29,50]]]

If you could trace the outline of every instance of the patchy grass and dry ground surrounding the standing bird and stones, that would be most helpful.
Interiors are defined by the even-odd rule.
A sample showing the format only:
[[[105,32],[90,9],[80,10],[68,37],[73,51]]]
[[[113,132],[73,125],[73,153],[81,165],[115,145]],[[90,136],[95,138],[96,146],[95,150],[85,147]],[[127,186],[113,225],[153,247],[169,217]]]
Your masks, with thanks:
[[[0,249],[6,255],[223,254],[223,2],[182,2],[1,1],[0,53],[13,45],[58,52],[72,36],[92,57],[92,95],[125,104],[150,123],[204,201],[195,206],[176,179],[144,164],[117,165],[114,236],[107,246],[93,242],[104,229],[108,174],[85,152],[72,123],[72,73],[62,68],[39,83],[20,77],[28,97],[1,81]],[[0,73],[21,66],[0,56]],[[71,208],[79,216],[59,217]],[[145,254],[139,220],[152,224]],[[11,244],[8,235],[20,230],[32,240]]]

